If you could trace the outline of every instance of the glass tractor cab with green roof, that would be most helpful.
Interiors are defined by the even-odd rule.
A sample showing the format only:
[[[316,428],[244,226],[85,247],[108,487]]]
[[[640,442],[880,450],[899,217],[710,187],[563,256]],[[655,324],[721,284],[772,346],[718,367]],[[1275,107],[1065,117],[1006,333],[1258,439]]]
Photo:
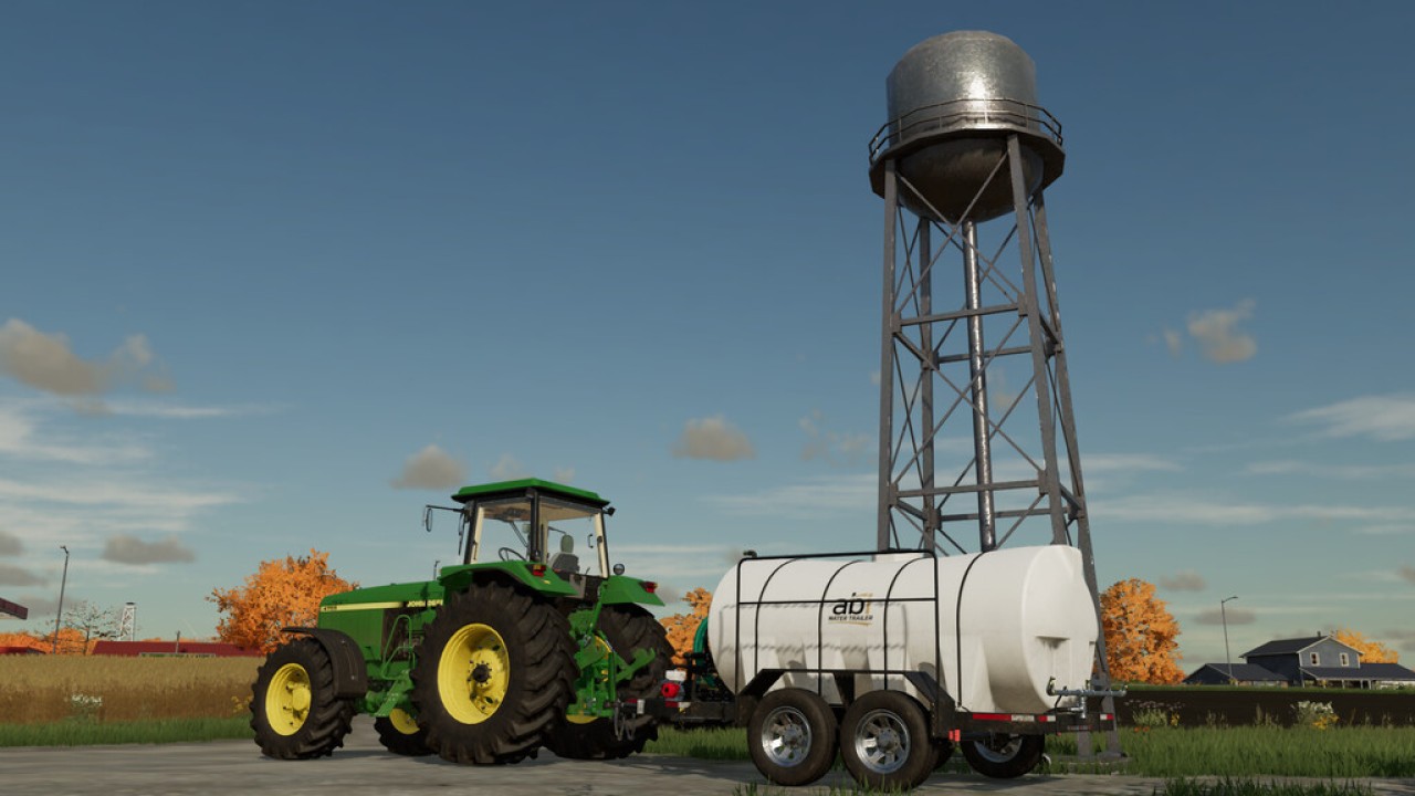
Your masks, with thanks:
[[[468,486],[453,500],[468,531],[463,564],[529,561],[562,576],[610,576],[604,517],[614,510],[593,491],[522,479]]]

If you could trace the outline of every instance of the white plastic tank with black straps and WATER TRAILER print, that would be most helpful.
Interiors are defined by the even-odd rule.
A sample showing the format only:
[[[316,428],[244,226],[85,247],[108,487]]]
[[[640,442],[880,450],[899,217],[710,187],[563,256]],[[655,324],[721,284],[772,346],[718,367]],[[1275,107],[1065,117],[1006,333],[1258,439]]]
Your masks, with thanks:
[[[884,687],[887,669],[928,674],[958,710],[1044,712],[1073,704],[1049,697],[1049,680],[1081,688],[1091,678],[1097,632],[1081,552],[1046,545],[944,558],[744,558],[713,592],[708,647],[733,693],[764,669],[785,669],[774,688],[839,704],[833,677],[818,671],[860,673],[862,694]],[[903,674],[887,677],[927,704]]]

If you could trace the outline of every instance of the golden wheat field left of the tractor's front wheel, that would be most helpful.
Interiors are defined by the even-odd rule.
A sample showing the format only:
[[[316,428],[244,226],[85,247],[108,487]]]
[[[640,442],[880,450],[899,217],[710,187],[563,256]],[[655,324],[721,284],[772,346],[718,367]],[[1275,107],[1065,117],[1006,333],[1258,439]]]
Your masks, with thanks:
[[[221,718],[246,711],[259,657],[0,657],[0,724]]]

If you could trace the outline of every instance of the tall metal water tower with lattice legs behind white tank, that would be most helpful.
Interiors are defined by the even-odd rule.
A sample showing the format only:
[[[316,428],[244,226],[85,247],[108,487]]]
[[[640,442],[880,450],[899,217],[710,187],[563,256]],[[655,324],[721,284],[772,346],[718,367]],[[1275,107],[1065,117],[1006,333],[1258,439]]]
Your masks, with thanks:
[[[1032,58],[993,33],[930,38],[886,85],[870,142],[884,200],[877,547],[1070,544],[1094,596],[1044,201],[1061,125],[1037,103]]]

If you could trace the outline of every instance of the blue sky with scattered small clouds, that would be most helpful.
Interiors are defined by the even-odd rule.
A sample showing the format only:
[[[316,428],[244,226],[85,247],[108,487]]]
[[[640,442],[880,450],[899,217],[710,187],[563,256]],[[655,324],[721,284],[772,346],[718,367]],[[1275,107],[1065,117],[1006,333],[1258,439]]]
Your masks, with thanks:
[[[884,78],[1010,37],[1102,585],[1186,671],[1353,627],[1415,661],[1415,7],[0,8],[0,598],[214,633],[214,588],[456,557],[559,479],[672,595],[874,544]],[[671,605],[671,610],[682,609]],[[1235,657],[1237,660],[1237,657]]]

